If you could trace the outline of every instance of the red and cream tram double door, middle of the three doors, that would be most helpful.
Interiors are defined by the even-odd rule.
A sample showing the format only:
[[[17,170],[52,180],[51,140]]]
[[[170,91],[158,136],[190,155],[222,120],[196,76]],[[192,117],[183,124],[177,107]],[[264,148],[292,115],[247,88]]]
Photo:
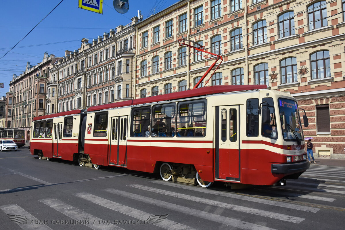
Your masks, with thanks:
[[[109,164],[127,166],[127,116],[111,118]]]

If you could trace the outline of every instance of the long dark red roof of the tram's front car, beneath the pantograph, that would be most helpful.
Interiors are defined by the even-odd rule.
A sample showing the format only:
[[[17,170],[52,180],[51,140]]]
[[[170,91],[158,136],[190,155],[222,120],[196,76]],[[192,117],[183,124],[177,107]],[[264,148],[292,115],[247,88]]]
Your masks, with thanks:
[[[186,90],[181,92],[174,92],[168,94],[157,95],[148,98],[138,98],[134,100],[114,102],[110,104],[101,104],[98,106],[91,106],[88,108],[90,111],[98,111],[103,109],[111,109],[125,106],[134,106],[138,104],[147,104],[159,101],[169,101],[190,97],[200,97],[216,93],[226,93],[226,92],[236,92],[236,91],[247,91],[247,90],[257,90],[257,89],[267,89],[266,85],[229,85],[229,86],[208,86],[201,87],[193,90]]]

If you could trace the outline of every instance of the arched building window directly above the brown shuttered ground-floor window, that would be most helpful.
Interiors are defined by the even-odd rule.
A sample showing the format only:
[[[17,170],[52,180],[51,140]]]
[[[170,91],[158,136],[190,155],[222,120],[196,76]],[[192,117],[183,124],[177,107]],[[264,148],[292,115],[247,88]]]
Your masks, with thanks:
[[[331,64],[329,63],[328,50],[312,53],[310,60],[312,66],[312,79],[331,77]]]

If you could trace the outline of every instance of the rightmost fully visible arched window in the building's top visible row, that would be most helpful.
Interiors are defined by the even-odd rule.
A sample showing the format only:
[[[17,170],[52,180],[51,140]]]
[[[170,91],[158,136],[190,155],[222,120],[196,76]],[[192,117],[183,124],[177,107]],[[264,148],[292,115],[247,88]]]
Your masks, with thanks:
[[[309,30],[327,26],[326,1],[315,2],[308,6]]]

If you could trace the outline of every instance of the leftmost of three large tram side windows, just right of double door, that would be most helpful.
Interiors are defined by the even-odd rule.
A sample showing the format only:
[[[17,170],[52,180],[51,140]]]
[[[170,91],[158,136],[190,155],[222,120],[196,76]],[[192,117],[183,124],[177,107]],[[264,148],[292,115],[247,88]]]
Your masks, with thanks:
[[[150,125],[151,107],[140,107],[132,109],[131,115],[131,137],[145,137]]]

